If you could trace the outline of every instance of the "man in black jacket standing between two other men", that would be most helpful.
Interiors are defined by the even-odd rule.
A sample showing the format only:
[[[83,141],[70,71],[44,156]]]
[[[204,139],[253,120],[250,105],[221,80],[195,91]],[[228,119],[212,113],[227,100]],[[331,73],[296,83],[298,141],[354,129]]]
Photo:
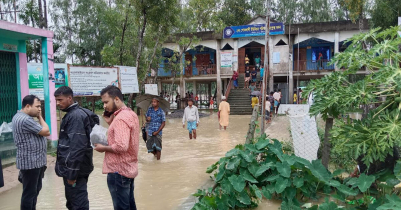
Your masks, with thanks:
[[[93,171],[93,149],[89,139],[92,127],[99,119],[74,102],[73,95],[71,88],[66,86],[54,92],[58,108],[66,112],[60,125],[55,170],[64,180],[67,208],[89,209],[87,183]]]

